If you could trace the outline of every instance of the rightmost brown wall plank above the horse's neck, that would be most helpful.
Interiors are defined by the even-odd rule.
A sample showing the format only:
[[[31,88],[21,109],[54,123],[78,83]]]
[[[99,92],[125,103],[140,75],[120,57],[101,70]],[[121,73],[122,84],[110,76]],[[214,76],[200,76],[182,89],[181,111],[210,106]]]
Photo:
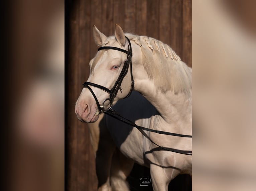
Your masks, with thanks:
[[[192,0],[183,0],[182,60],[192,67]]]

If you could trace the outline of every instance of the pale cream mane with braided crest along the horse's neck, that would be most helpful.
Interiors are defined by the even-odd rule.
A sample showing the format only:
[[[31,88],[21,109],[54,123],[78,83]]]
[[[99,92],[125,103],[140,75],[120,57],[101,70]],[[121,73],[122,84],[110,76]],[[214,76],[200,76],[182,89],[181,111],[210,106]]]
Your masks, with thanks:
[[[168,45],[146,36],[125,35],[141,47],[143,67],[158,91],[191,94],[192,70]]]

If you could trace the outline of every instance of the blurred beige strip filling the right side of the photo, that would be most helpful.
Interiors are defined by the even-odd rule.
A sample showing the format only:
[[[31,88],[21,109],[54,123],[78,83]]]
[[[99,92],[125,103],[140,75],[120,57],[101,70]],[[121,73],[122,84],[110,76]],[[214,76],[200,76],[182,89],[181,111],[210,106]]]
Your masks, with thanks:
[[[255,1],[193,1],[195,191],[256,190]]]

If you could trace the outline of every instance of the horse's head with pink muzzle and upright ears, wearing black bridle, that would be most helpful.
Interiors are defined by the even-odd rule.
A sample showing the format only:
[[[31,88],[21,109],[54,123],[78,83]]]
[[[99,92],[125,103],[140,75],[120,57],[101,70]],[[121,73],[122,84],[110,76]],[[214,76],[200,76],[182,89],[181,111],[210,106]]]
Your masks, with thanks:
[[[90,75],[76,102],[75,112],[82,122],[95,122],[132,90],[131,45],[122,28],[116,25],[115,35],[106,37],[96,26],[93,37],[99,51],[90,61]],[[133,83],[132,83],[133,84]]]

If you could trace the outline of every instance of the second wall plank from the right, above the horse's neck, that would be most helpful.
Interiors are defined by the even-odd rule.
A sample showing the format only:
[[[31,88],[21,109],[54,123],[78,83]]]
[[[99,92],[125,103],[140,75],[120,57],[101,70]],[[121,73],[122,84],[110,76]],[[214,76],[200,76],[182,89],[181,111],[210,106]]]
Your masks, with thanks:
[[[170,47],[183,60],[182,57],[182,0],[170,2]]]

